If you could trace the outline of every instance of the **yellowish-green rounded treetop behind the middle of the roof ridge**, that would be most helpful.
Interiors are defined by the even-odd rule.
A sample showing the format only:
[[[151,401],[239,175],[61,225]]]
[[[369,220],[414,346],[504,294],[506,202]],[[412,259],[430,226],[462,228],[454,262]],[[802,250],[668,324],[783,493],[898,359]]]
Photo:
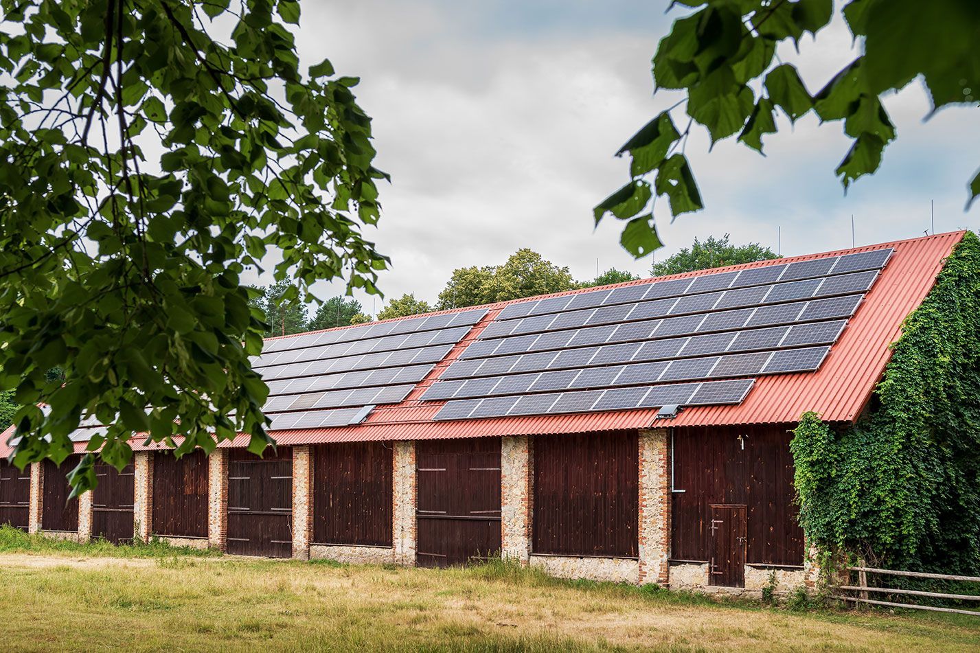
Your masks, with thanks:
[[[439,293],[439,310],[533,297],[570,290],[575,281],[537,252],[518,249],[502,266],[460,268]]]

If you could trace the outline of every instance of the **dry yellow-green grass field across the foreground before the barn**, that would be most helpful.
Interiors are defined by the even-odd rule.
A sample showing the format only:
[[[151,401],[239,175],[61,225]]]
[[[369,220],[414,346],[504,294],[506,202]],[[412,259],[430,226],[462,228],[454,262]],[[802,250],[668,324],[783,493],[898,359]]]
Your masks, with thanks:
[[[792,611],[499,562],[435,571],[105,547],[0,532],[3,650],[980,647],[969,617]]]

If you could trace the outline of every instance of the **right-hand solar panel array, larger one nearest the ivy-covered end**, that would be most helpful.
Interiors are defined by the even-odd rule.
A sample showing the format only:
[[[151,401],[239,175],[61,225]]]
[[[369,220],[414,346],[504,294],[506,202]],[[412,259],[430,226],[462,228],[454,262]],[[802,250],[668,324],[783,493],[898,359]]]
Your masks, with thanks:
[[[892,254],[879,249],[507,306],[422,395],[436,420],[741,403],[815,372]]]

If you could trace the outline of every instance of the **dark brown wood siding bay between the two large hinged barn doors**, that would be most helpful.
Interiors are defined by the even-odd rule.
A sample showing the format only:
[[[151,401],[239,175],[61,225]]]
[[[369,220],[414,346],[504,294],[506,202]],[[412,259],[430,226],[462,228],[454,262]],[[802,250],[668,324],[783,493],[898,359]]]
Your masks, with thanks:
[[[323,444],[312,453],[314,542],[391,546],[391,443]]]

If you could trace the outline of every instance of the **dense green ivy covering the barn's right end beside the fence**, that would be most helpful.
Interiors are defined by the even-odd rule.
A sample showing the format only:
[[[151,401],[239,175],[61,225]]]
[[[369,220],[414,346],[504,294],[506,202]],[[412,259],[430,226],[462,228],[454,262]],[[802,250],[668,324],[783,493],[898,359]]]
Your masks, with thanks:
[[[800,523],[831,555],[980,573],[980,239],[967,232],[908,316],[872,410],[791,443]]]

